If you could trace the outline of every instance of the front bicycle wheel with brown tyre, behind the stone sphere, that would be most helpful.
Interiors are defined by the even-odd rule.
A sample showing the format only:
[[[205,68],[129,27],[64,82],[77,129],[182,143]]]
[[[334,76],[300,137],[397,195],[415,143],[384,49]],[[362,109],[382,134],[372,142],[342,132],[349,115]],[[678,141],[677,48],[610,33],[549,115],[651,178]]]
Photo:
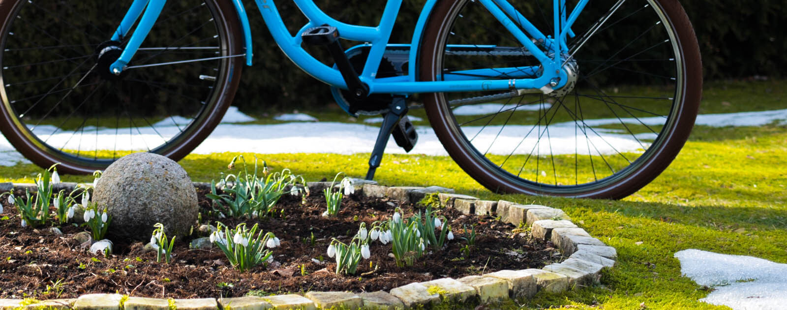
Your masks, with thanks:
[[[231,2],[169,1],[129,64],[101,57],[131,2],[0,2],[0,131],[30,161],[91,173],[134,152],[185,157],[219,124],[243,54]],[[118,49],[119,50],[119,49]],[[117,53],[114,58],[119,56]]]

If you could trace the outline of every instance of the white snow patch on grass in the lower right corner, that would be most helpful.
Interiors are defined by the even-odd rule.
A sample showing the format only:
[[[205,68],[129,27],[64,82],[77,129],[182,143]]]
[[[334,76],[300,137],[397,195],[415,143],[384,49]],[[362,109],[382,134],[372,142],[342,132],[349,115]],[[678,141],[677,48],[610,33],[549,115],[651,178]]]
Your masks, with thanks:
[[[787,264],[752,256],[685,249],[675,253],[683,275],[715,290],[700,301],[733,309],[784,309]]]

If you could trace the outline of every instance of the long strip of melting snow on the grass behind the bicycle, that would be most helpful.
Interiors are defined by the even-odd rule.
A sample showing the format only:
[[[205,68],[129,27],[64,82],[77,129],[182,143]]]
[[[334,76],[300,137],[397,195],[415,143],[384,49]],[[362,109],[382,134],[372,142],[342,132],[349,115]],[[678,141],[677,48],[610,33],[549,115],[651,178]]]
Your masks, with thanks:
[[[497,108],[499,109],[499,107]],[[305,114],[301,114],[306,116]],[[311,117],[311,116],[309,116]],[[172,119],[176,121],[173,123]],[[166,121],[169,123],[165,123]],[[73,131],[60,131],[54,126],[39,126],[35,132],[39,135],[52,135],[48,137],[48,142],[56,146],[65,144],[65,148],[72,149],[147,149],[147,144],[157,144],[162,142],[162,138],[169,138],[179,132],[177,117],[173,116],[157,124],[154,131],[150,127],[139,128],[144,139],[124,135],[123,132],[116,132],[109,128],[91,128],[90,131],[79,132],[82,145],[77,146],[80,139],[74,139]],[[255,152],[255,153],[368,153],[374,146],[377,138],[378,127],[365,124],[345,124],[345,123],[285,123],[285,124],[227,124],[233,122],[244,122],[253,118],[238,112],[235,107],[231,107],[224,117],[223,124],[216,127],[205,142],[202,142],[194,153],[214,153],[214,152]],[[645,124],[660,124],[663,119],[652,117],[640,119]],[[745,112],[730,114],[707,114],[697,117],[697,124],[709,126],[760,126],[770,124],[774,121],[787,120],[787,109]],[[637,120],[626,120],[638,124]],[[586,124],[597,126],[600,124],[617,124],[617,119],[605,120],[586,120]],[[637,149],[648,146],[646,139],[654,138],[654,135],[640,134],[636,138],[626,134],[624,131],[596,128],[589,143],[584,142],[576,136],[574,122],[551,124],[549,126],[549,139],[552,142],[552,149],[549,143],[540,143],[534,149],[536,138],[539,133],[532,126],[508,125],[487,126],[487,127],[463,127],[464,134],[473,138],[473,142],[478,149],[486,149],[490,145],[490,153],[497,154],[563,154],[563,153],[616,153],[626,151],[636,151]],[[523,140],[523,135],[530,135]],[[543,131],[543,129],[541,129]],[[419,134],[419,142],[411,153],[427,155],[446,155],[445,149],[438,141],[437,136],[430,127],[416,127]],[[637,139],[639,141],[637,141]],[[91,142],[86,144],[84,142]],[[580,143],[581,142],[581,143]],[[404,150],[396,146],[393,139],[390,139],[386,153],[404,153]],[[27,162],[13,151],[13,146],[5,138],[0,139],[0,164],[13,165],[17,161]]]

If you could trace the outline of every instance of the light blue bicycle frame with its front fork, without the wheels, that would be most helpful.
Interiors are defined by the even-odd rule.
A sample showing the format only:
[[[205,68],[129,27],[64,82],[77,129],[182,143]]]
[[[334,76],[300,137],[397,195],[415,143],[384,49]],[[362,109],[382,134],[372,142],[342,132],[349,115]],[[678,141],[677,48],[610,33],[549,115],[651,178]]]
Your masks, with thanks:
[[[252,41],[246,9],[241,0],[231,1],[235,5],[238,19],[241,22],[246,46],[246,54],[233,56],[246,57],[246,65],[251,65]],[[377,27],[345,24],[323,13],[313,0],[294,0],[297,7],[301,9],[301,12],[309,19],[309,23],[305,24],[305,26],[297,31],[295,35],[290,35],[290,32],[287,31],[273,0],[255,0],[260,9],[260,13],[262,13],[265,24],[273,35],[273,39],[283,50],[284,54],[290,57],[290,60],[301,68],[301,70],[309,73],[309,75],[319,79],[323,83],[327,83],[334,87],[347,89],[342,74],[338,69],[324,65],[301,47],[301,33],[307,28],[328,24],[338,29],[342,39],[371,43],[366,65],[364,66],[364,72],[361,72],[359,76],[360,81],[368,85],[370,94],[415,94],[425,92],[523,89],[541,90],[547,93],[553,88],[563,87],[566,83],[567,73],[563,70],[563,61],[566,61],[564,57],[566,57],[568,53],[566,37],[574,36],[573,31],[571,31],[571,25],[574,24],[579,14],[582,13],[582,9],[584,9],[589,0],[580,0],[568,16],[566,9],[561,9],[565,8],[566,0],[554,0],[553,20],[555,33],[552,35],[544,35],[541,33],[541,31],[535,28],[527,18],[523,17],[519,11],[508,3],[507,0],[478,0],[478,2],[486,7],[486,9],[511,32],[515,39],[517,39],[533,57],[541,62],[541,66],[475,69],[466,72],[455,72],[457,73],[455,75],[445,75],[442,76],[442,80],[439,81],[419,81],[417,79],[417,65],[415,64],[417,63],[423,28],[426,26],[427,17],[437,1],[438,0],[427,0],[419,16],[416,30],[414,31],[410,44],[410,70],[408,75],[377,79],[375,78],[377,73],[376,70],[379,67],[380,61],[382,61],[382,56],[388,45],[390,32],[393,28],[393,23],[396,20],[397,14],[399,13],[402,0],[389,0],[386,3],[382,18]],[[116,41],[120,40],[135,24],[140,15],[142,15],[142,19],[139,20],[139,24],[131,35],[131,39],[128,40],[127,46],[124,47],[123,53],[118,60],[109,67],[111,72],[120,74],[128,62],[131,61],[131,57],[134,56],[139,46],[142,44],[142,41],[148,35],[148,32],[150,32],[150,28],[152,28],[153,24],[156,22],[165,2],[166,0],[134,0],[123,20],[120,22],[120,26],[117,28],[117,31],[115,31],[112,39]],[[144,13],[142,13],[143,11]],[[519,24],[515,23],[512,18],[519,21]],[[525,32],[527,32],[527,34]],[[541,42],[542,46],[546,46],[546,50],[541,50],[534,42]],[[559,44],[555,44],[555,42],[559,42]],[[202,60],[216,58],[220,57],[205,58]],[[527,75],[526,72],[538,72],[541,68],[543,68],[541,76],[537,78],[527,78],[530,76]],[[495,79],[501,76],[501,72],[504,72],[505,76],[509,79]],[[465,75],[462,75],[462,73],[465,73]],[[471,73],[474,78],[467,79],[467,73]],[[490,79],[479,79],[478,76],[489,76]]]

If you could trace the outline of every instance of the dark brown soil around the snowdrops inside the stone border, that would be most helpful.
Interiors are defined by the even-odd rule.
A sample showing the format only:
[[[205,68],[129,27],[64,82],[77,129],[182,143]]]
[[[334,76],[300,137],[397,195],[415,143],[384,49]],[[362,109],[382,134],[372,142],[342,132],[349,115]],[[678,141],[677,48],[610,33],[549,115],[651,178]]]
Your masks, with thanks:
[[[20,194],[17,193],[17,197]],[[155,253],[143,252],[142,242],[113,240],[114,254],[109,258],[93,256],[80,247],[73,234],[84,227],[68,224],[58,236],[50,227],[21,227],[16,209],[4,201],[4,220],[0,220],[0,298],[35,297],[39,299],[78,297],[83,293],[124,293],[139,297],[240,297],[247,293],[390,290],[410,282],[442,277],[460,278],[504,269],[541,268],[558,259],[549,242],[530,238],[527,232],[512,232],[516,227],[493,218],[465,216],[453,209],[441,209],[449,219],[456,239],[444,249],[432,250],[411,267],[399,268],[391,253],[390,242],[371,243],[371,258],[361,260],[356,275],[336,275],[334,260],[327,257],[331,238],[349,242],[361,221],[371,225],[387,220],[395,206],[405,216],[423,209],[401,205],[386,198],[353,195],[345,197],[336,218],[323,218],[322,193],[307,198],[286,195],[276,205],[275,216],[264,219],[218,219],[209,215],[211,201],[198,190],[202,223],[215,225],[220,220],[230,227],[245,222],[259,223],[281,239],[273,249],[275,262],[239,272],[229,266],[220,249],[189,249],[188,242],[204,237],[194,230],[192,236],[178,236],[171,264],[157,263]],[[284,210],[281,212],[281,210]],[[7,217],[7,219],[6,219]],[[53,217],[54,219],[54,217]],[[50,225],[50,224],[48,224]],[[475,225],[477,238],[469,255],[463,256],[467,242],[461,227]],[[112,227],[109,227],[112,230]],[[314,235],[314,244],[309,241]],[[312,259],[322,260],[320,263]],[[370,267],[373,265],[374,267]],[[305,273],[301,274],[301,266]],[[61,283],[61,286],[54,285]]]

